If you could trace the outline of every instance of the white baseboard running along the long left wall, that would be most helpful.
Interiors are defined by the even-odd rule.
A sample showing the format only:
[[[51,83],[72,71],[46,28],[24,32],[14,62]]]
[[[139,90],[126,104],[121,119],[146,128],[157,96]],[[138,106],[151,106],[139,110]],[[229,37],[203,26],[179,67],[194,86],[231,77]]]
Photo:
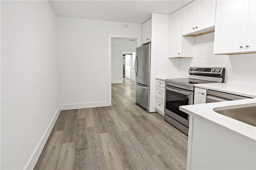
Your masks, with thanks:
[[[36,148],[34,149],[34,152],[30,156],[24,169],[29,169],[29,170],[34,169],[34,166],[36,165],[36,162],[37,162],[42,150],[44,149],[44,145],[46,144],[46,141],[47,141],[48,137],[50,136],[50,133],[54,127],[54,124],[60,115],[60,111],[61,111],[60,108],[61,108],[61,106],[59,106],[55,115],[52,117],[52,121],[49,123],[46,131],[44,132],[44,135],[42,136],[41,140],[39,141]]]

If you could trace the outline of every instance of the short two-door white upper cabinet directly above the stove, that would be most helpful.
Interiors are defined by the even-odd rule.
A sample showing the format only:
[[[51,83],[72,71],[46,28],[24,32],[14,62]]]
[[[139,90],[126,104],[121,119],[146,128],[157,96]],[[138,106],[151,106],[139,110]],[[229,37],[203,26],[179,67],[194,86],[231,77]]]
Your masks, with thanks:
[[[216,0],[196,0],[183,7],[182,35],[214,30]]]

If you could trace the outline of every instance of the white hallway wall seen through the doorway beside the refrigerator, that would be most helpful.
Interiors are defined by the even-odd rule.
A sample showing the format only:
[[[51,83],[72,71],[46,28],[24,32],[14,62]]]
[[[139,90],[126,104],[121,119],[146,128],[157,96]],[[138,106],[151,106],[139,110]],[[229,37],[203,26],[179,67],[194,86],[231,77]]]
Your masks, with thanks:
[[[130,41],[130,38],[111,39],[111,83],[122,83],[122,51],[136,51],[137,41]]]

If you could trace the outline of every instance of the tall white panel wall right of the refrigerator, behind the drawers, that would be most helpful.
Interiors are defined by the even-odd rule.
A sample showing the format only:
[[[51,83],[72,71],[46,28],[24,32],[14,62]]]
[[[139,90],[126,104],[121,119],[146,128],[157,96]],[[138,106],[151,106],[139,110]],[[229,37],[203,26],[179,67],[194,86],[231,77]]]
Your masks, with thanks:
[[[152,39],[150,61],[150,112],[155,109],[156,77],[178,76],[179,61],[168,58],[169,15],[152,13]]]

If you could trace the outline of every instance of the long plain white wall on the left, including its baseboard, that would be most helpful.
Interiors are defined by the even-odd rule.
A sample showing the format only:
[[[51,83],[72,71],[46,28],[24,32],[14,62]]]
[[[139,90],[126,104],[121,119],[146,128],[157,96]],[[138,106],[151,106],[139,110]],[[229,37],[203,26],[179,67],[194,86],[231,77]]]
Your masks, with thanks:
[[[48,1],[1,1],[1,169],[33,168],[55,123],[56,43]]]

